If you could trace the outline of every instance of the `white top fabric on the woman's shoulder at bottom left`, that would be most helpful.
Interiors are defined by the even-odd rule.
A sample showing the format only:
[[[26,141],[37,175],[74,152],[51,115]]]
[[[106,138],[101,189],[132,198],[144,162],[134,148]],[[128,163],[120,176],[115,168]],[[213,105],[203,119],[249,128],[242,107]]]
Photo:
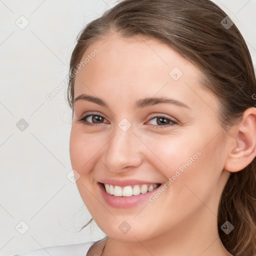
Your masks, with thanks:
[[[95,241],[57,245],[27,251],[13,256],[84,256]]]

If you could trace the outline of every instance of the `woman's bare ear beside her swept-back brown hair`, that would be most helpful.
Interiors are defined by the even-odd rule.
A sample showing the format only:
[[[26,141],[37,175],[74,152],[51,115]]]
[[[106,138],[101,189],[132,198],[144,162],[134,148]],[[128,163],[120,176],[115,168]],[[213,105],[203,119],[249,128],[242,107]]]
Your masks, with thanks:
[[[224,165],[224,169],[230,172],[242,170],[256,155],[256,108],[247,108],[235,127]]]

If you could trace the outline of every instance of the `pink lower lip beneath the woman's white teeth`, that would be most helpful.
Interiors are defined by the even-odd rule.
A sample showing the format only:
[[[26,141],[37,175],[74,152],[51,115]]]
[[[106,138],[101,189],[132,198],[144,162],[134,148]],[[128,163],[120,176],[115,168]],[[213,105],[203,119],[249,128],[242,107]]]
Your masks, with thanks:
[[[102,193],[104,200],[114,208],[129,208],[138,205],[139,203],[147,200],[150,195],[152,195],[156,189],[159,187],[154,188],[152,191],[148,191],[143,194],[138,195],[131,195],[131,196],[114,196],[112,194],[108,194],[102,183],[98,183],[99,189]]]

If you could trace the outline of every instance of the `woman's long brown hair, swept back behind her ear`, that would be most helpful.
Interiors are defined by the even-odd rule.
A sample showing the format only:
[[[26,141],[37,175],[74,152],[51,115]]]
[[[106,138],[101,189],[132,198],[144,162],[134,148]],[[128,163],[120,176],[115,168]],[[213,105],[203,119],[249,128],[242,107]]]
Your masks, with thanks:
[[[113,32],[123,37],[146,35],[165,43],[202,71],[202,86],[216,95],[219,122],[228,130],[247,108],[255,106],[256,79],[240,31],[225,18],[227,14],[210,0],[123,0],[106,10],[81,30],[71,54],[67,100],[72,114],[74,71],[87,47]],[[230,27],[224,26],[227,21]],[[218,234],[234,255],[256,255],[255,185],[254,158],[244,169],[231,172],[220,197]],[[234,229],[225,234],[220,227],[227,220]]]

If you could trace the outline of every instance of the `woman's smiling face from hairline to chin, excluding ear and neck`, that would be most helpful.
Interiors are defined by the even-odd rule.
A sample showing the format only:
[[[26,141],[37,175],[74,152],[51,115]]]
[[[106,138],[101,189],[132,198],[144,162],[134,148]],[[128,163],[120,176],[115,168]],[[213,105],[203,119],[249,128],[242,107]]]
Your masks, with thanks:
[[[202,72],[145,36],[102,38],[83,60],[74,83],[70,159],[98,226],[127,241],[198,221],[209,226],[228,175],[218,101],[202,87]],[[114,195],[101,183],[110,193],[113,185]],[[138,187],[140,194],[130,195]]]

